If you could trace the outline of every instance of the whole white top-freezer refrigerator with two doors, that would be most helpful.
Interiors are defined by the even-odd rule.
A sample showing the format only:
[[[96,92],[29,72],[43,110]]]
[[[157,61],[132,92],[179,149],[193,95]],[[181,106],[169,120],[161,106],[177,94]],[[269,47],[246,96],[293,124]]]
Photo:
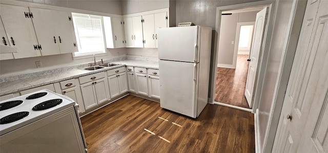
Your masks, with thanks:
[[[197,118],[208,103],[212,28],[158,29],[160,106]]]

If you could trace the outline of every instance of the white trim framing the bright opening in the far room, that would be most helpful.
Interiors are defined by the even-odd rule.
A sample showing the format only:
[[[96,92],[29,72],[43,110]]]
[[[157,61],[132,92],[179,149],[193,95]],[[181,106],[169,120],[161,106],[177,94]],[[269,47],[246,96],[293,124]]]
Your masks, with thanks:
[[[255,17],[256,18],[256,17]],[[238,44],[239,44],[239,34],[240,34],[240,27],[241,26],[249,26],[252,25],[253,26],[253,33],[254,33],[254,27],[255,27],[255,21],[252,22],[242,22],[242,23],[237,23],[237,29],[236,29],[236,36],[235,36],[235,48],[234,48],[234,59],[232,61],[232,66],[234,67],[234,69],[236,68],[236,64],[237,64],[237,56],[238,56]],[[252,34],[253,35],[253,34]],[[253,36],[251,41],[253,41]],[[252,44],[252,43],[251,43]],[[252,47],[251,47],[252,48]],[[251,52],[251,51],[250,51]],[[250,52],[248,52],[248,54],[250,54]]]

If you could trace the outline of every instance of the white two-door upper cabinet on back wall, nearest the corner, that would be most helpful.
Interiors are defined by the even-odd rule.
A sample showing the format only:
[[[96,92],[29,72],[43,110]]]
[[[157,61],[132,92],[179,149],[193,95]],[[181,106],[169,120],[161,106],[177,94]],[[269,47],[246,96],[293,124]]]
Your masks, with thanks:
[[[141,16],[124,18],[124,31],[126,38],[126,47],[143,48],[144,37],[142,36]]]

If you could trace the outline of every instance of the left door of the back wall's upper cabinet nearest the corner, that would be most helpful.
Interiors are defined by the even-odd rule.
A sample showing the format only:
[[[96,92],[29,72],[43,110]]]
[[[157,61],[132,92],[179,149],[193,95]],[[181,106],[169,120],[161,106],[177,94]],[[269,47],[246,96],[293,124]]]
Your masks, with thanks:
[[[134,47],[132,17],[126,17],[124,20],[124,33],[127,43],[126,47]]]

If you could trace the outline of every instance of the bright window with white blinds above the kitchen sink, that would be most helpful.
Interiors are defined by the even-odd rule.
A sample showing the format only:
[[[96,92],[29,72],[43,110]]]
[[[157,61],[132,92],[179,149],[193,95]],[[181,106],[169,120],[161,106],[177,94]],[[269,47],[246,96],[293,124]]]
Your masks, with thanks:
[[[72,13],[78,52],[74,56],[105,53],[102,17]]]

